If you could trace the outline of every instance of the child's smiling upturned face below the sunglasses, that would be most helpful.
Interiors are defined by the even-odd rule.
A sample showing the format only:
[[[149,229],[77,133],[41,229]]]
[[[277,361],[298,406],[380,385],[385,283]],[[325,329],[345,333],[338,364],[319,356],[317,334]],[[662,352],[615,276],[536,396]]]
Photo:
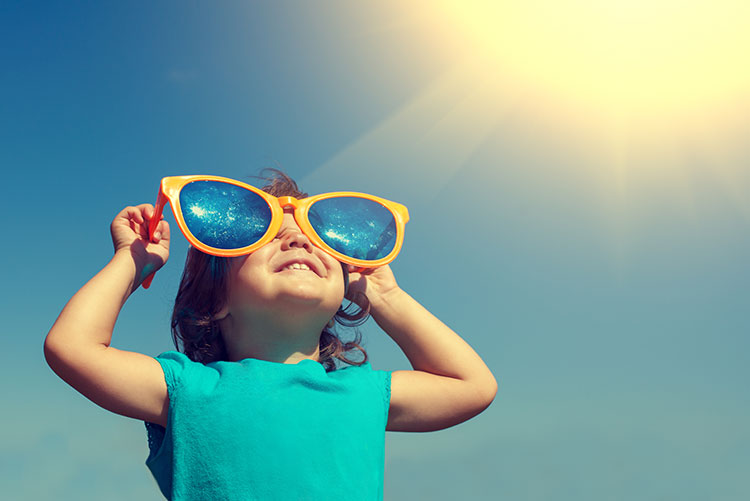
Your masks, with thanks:
[[[293,262],[306,263],[310,270],[288,269]],[[232,262],[227,308],[236,319],[276,312],[303,314],[325,324],[343,299],[341,263],[310,242],[291,209],[284,211],[274,240]]]

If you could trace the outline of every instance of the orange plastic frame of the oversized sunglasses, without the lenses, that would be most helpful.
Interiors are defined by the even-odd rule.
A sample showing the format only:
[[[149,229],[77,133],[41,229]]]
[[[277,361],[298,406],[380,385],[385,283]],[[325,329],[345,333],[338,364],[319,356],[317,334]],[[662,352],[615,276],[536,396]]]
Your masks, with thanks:
[[[271,209],[271,224],[268,226],[268,230],[266,231],[266,233],[254,244],[242,247],[240,249],[218,249],[216,247],[206,245],[198,240],[195,235],[190,232],[187,224],[185,224],[185,219],[182,216],[182,208],[180,206],[179,197],[180,190],[182,190],[185,185],[194,181],[219,181],[222,183],[232,184],[234,186],[245,188],[261,196],[268,203],[268,206]],[[388,209],[393,214],[394,220],[396,221],[396,244],[394,245],[393,250],[384,258],[377,259],[375,261],[364,261],[362,259],[355,259],[349,256],[345,256],[344,254],[341,254],[340,252],[328,246],[318,236],[318,234],[315,232],[312,225],[308,221],[307,212],[310,209],[310,206],[315,202],[334,197],[364,198],[366,200],[377,202]],[[185,235],[185,238],[188,239],[188,242],[190,242],[193,247],[200,250],[201,252],[205,252],[206,254],[223,257],[234,257],[250,254],[251,252],[264,246],[268,242],[271,242],[276,237],[279,229],[281,228],[281,224],[284,220],[284,208],[293,207],[294,220],[297,222],[297,226],[299,226],[300,230],[302,230],[302,233],[304,233],[305,236],[310,239],[313,245],[330,254],[338,261],[359,267],[357,271],[360,272],[366,268],[377,268],[378,266],[383,266],[384,264],[388,264],[396,258],[396,255],[399,253],[399,251],[401,250],[401,246],[404,243],[404,226],[409,221],[409,210],[406,208],[406,206],[398,202],[392,202],[390,200],[386,200],[385,198],[376,197],[367,193],[358,193],[354,191],[334,191],[331,193],[321,193],[320,195],[297,199],[289,196],[275,197],[259,188],[256,188],[255,186],[221,176],[169,176],[161,180],[159,194],[156,199],[154,216],[151,218],[151,221],[149,223],[149,241],[152,239],[154,231],[156,231],[156,227],[159,224],[159,220],[161,219],[162,212],[164,211],[164,207],[166,206],[167,202],[169,202],[169,204],[172,206],[172,213],[174,214],[175,220],[177,221],[177,226],[179,226],[183,235]],[[151,280],[153,280],[153,277],[154,273],[146,277],[146,279],[143,281],[144,289],[148,289],[148,287],[151,285]]]

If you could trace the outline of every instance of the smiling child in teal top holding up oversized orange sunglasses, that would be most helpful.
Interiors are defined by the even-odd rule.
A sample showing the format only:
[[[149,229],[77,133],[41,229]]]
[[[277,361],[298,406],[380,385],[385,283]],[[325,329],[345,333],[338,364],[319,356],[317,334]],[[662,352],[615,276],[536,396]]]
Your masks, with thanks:
[[[328,223],[316,218],[364,212],[319,203],[327,208],[296,213],[307,194],[275,174],[262,192],[211,176],[204,185],[165,178],[156,210],[143,204],[115,217],[114,257],[68,302],[45,341],[58,376],[105,409],[144,421],[146,464],[167,499],[382,499],[385,431],[448,428],[482,412],[497,391],[474,350],[396,283],[387,261],[408,220],[399,222],[398,204],[384,201],[385,211],[370,195],[344,200],[373,205],[390,220],[383,233],[390,236],[369,242],[385,250],[357,254],[353,237],[320,231]],[[179,184],[173,193],[167,180]],[[219,186],[235,198],[222,206],[210,198],[215,190],[194,186]],[[183,352],[153,358],[110,341],[127,298],[167,261],[161,209],[170,196],[192,244],[172,316]],[[278,204],[268,202],[274,197]],[[204,198],[210,203],[194,203]],[[248,236],[261,216],[257,235],[265,235]],[[361,311],[342,309],[345,298]],[[354,326],[368,313],[413,370],[374,370],[357,341],[338,338],[335,322]],[[363,359],[350,359],[353,350]]]

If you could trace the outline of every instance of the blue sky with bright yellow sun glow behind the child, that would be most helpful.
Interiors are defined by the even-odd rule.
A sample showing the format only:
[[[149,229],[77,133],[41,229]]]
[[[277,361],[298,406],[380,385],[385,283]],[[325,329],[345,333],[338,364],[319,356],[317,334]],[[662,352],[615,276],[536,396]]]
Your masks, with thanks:
[[[750,498],[746,4],[4,2],[3,497],[163,499],[44,338],[161,177],[278,166],[404,203],[399,284],[499,382],[388,433],[386,499]],[[174,349],[186,251],[113,346]]]

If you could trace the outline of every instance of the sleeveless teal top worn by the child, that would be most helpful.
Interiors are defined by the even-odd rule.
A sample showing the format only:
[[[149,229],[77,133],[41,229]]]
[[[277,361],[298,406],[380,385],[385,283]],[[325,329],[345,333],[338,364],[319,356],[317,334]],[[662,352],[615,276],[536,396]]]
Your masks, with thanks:
[[[167,428],[144,421],[146,466],[167,499],[382,499],[391,373],[369,362],[156,360]]]

